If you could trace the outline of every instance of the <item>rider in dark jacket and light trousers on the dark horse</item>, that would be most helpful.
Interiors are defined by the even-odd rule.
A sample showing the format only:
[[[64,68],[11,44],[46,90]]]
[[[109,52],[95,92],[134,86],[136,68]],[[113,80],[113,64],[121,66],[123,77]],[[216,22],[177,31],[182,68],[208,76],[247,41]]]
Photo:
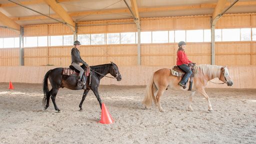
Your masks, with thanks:
[[[72,60],[71,65],[73,65],[74,68],[76,68],[77,70],[80,71],[79,76],[78,76],[77,86],[83,85],[81,78],[82,78],[82,73],[84,72],[84,70],[80,66],[80,63],[84,64],[86,67],[89,67],[89,65],[82,60],[82,58],[80,56],[80,51],[77,49],[80,47],[80,44],[81,43],[78,40],[75,40],[74,47],[71,49],[71,60]]]

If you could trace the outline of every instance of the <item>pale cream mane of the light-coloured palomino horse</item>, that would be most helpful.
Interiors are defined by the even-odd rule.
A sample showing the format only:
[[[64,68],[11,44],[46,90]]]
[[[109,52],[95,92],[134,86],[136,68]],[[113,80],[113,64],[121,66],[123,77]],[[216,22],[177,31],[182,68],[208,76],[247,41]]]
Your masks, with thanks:
[[[208,76],[210,79],[220,76],[221,66],[219,65],[199,64],[196,68],[196,71],[200,69],[202,74]]]

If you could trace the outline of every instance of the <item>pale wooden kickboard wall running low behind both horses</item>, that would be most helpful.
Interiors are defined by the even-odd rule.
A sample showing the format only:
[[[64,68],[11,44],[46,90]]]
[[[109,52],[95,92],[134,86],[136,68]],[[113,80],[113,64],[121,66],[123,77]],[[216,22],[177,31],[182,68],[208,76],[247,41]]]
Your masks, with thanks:
[[[41,83],[44,74],[49,70],[58,66],[0,66],[0,82],[26,82],[26,83]],[[62,66],[63,67],[63,66]],[[101,79],[101,85],[146,85],[154,71],[160,68],[169,68],[169,65],[164,66],[120,66],[119,71],[122,75],[121,81],[116,81],[112,78],[104,77]],[[131,70],[136,69],[136,70]],[[214,84],[208,82],[207,87],[218,88],[256,88],[256,80],[251,80],[251,77],[256,77],[256,66],[228,66],[229,74],[233,80],[233,85]]]

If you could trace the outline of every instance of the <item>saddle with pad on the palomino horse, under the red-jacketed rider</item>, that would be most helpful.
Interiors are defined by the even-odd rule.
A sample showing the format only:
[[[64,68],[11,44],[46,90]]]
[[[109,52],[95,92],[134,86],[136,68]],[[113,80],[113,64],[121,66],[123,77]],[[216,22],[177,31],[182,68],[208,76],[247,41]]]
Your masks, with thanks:
[[[188,91],[191,91],[192,89],[192,84],[193,84],[193,77],[194,77],[194,73],[196,73],[196,69],[195,69],[195,64],[192,64],[192,65],[189,65],[189,67],[191,68],[192,70],[192,74],[189,76],[190,80],[189,80],[189,88],[188,88]],[[174,76],[177,76],[178,79],[181,78],[186,74],[186,72],[184,72],[182,69],[180,69],[177,65],[174,65],[171,69],[171,74],[174,75]],[[186,81],[187,83],[187,81]],[[183,86],[183,88],[185,89],[186,88],[186,83],[185,85]]]

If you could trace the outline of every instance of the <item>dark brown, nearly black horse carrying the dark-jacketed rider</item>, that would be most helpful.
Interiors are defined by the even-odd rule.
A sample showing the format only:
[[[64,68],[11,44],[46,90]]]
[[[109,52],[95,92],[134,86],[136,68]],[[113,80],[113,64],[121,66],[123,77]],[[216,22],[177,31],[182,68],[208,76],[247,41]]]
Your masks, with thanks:
[[[84,67],[84,65],[82,65],[82,67]],[[117,81],[121,80],[121,74],[118,70],[118,67],[113,62],[108,64],[90,66],[90,69],[91,69],[91,85],[89,85],[83,92],[82,99],[79,104],[80,110],[82,110],[82,102],[85,99],[90,89],[95,94],[101,108],[101,99],[98,94],[98,86],[99,86],[100,79],[104,77],[107,73],[110,73],[112,76],[114,76],[114,78],[116,78]],[[44,110],[49,106],[49,98],[51,98],[55,110],[59,111],[55,102],[55,97],[60,87],[61,88],[66,87],[72,90],[82,89],[82,86],[77,86],[77,80],[75,76],[63,75],[62,72],[63,72],[63,68],[57,67],[54,69],[50,69],[44,75],[44,79],[43,79],[44,97],[42,99]],[[50,90],[48,89],[48,79],[52,87]]]

